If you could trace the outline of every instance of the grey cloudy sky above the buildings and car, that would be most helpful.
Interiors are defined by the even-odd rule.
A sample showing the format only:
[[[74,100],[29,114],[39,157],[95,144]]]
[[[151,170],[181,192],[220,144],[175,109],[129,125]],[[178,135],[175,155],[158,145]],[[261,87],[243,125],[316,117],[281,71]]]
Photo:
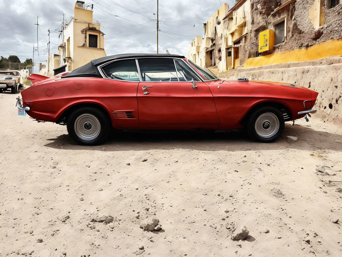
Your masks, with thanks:
[[[2,28],[0,56],[17,55],[23,62],[47,60],[48,29],[50,54],[58,53],[63,14],[74,15],[76,0],[0,0]],[[93,19],[101,23],[107,55],[156,53],[157,0],[85,0],[94,4]],[[230,6],[234,0],[226,0]],[[159,0],[159,53],[184,54],[191,40],[203,35],[203,23],[224,3],[223,0]],[[37,49],[38,16],[38,49]],[[195,26],[194,26],[195,25]],[[39,55],[38,55],[39,52]],[[37,72],[37,70],[35,70]]]

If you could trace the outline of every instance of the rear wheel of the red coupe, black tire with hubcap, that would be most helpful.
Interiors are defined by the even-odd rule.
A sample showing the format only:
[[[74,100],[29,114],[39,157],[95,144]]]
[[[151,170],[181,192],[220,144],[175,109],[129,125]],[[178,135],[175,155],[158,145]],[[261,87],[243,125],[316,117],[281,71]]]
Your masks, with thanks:
[[[99,109],[82,107],[70,113],[67,130],[80,145],[100,145],[109,134],[110,121]]]

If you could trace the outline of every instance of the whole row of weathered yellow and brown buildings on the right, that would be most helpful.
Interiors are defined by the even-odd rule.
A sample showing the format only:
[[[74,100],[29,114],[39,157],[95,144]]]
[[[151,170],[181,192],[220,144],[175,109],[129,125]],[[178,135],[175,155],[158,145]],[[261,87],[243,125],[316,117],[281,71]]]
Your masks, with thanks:
[[[219,72],[342,54],[342,1],[236,0],[224,3],[191,42],[188,58]]]

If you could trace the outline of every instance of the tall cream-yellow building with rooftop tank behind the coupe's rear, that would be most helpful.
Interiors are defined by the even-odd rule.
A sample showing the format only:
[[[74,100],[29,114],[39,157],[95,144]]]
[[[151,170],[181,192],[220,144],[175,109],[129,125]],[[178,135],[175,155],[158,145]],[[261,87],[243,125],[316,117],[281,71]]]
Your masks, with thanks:
[[[93,21],[93,11],[85,8],[85,3],[76,1],[74,17],[64,24],[63,43],[58,46],[58,54],[51,54],[39,73],[54,76],[64,71],[73,71],[91,60],[106,56],[104,33],[101,24]]]

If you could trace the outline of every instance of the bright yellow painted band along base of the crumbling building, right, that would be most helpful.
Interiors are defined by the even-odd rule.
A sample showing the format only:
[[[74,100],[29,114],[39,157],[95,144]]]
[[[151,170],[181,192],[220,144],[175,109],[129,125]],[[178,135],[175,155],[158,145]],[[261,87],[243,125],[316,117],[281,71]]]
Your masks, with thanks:
[[[285,62],[311,61],[338,55],[342,55],[342,39],[328,40],[308,48],[276,52],[267,56],[250,58],[245,62],[244,67],[248,68]]]

